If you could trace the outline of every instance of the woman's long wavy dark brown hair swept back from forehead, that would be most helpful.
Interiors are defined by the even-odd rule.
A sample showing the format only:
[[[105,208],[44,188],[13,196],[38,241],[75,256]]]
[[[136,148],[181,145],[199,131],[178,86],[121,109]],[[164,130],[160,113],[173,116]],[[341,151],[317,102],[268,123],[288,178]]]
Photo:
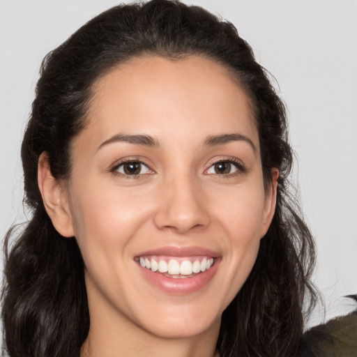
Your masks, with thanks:
[[[204,56],[225,66],[252,104],[266,183],[278,167],[275,215],[257,261],[222,315],[217,349],[228,356],[296,356],[304,313],[316,300],[310,282],[314,241],[294,195],[286,112],[266,70],[233,24],[179,1],[111,8],[47,54],[22,142],[25,202],[31,220],[6,236],[3,332],[11,357],[78,357],[89,331],[84,264],[75,237],[53,227],[37,183],[46,151],[55,179],[70,172],[70,143],[86,125],[93,83],[135,56]],[[10,242],[10,236],[17,236]],[[11,248],[8,248],[11,245]]]

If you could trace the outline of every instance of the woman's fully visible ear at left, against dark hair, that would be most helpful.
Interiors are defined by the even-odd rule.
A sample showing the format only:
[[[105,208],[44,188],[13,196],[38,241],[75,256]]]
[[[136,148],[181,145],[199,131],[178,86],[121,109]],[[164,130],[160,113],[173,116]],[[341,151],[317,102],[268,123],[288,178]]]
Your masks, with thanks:
[[[68,192],[63,182],[52,176],[46,152],[41,153],[38,159],[38,188],[56,231],[65,237],[74,236]]]

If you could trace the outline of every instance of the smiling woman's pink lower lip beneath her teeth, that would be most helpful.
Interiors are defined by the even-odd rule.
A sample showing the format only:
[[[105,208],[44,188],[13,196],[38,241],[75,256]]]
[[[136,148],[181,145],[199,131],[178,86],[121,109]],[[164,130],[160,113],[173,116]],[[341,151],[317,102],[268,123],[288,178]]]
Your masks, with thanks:
[[[215,259],[215,264],[208,270],[198,273],[191,278],[169,278],[161,273],[153,272],[148,268],[143,268],[138,264],[142,275],[154,287],[169,294],[190,294],[202,289],[211,281],[219,266],[219,259]]]

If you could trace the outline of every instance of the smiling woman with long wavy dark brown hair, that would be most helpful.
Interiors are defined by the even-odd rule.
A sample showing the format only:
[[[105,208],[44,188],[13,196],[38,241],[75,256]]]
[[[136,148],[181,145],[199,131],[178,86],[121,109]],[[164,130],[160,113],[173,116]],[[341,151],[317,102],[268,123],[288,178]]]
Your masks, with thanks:
[[[284,105],[231,24],[94,18],[45,59],[22,162],[10,356],[296,356],[314,245]]]

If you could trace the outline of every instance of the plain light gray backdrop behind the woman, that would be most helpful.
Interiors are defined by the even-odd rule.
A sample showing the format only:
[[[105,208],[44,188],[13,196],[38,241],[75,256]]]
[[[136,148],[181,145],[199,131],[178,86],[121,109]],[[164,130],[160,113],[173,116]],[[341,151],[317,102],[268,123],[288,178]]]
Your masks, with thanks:
[[[40,61],[119,2],[0,1],[1,237],[25,219],[20,143]],[[277,79],[298,160],[293,178],[317,239],[314,280],[326,300],[326,318],[351,311],[354,304],[342,296],[357,294],[357,2],[185,2],[233,22]],[[323,319],[318,306],[309,324]]]

